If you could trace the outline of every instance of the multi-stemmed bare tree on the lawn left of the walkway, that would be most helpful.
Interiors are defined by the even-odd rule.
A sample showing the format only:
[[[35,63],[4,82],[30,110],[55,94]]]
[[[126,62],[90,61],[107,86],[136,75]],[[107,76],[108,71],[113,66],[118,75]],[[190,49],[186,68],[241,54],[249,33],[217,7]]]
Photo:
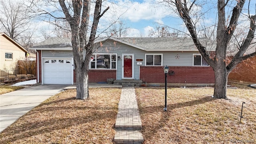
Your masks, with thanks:
[[[32,2],[35,1],[32,0]],[[46,0],[45,3],[42,1],[36,2],[32,6],[31,12],[38,13],[39,16],[44,14],[44,18],[48,18],[50,23],[53,23],[55,20],[65,20],[68,22],[71,30],[72,51],[76,68],[76,98],[88,98],[89,63],[96,47],[94,40],[97,37],[98,22],[109,7],[102,11],[102,0],[95,0],[93,2],[91,0],[58,0],[58,3],[52,0]],[[52,8],[56,8],[55,13],[43,9],[44,6],[50,4],[52,4]],[[92,21],[89,19],[91,5],[94,6]],[[60,12],[64,14],[64,17],[60,15]]]

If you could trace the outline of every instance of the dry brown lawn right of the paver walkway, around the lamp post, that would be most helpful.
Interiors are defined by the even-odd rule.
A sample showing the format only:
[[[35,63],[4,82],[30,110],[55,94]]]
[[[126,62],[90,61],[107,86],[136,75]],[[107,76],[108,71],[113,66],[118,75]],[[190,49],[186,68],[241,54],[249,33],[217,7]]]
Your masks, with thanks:
[[[227,144],[256,142],[256,89],[228,89],[228,98],[211,97],[213,88],[136,88],[144,144]],[[242,102],[242,122],[240,112]]]

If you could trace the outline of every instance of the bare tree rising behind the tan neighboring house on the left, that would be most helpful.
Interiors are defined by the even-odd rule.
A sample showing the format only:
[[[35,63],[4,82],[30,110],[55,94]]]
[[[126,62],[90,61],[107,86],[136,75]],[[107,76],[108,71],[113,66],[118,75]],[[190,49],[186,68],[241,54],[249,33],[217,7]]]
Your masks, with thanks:
[[[35,28],[31,28],[32,16],[27,12],[23,1],[0,0],[0,24],[12,39],[19,42],[24,48],[34,44]]]

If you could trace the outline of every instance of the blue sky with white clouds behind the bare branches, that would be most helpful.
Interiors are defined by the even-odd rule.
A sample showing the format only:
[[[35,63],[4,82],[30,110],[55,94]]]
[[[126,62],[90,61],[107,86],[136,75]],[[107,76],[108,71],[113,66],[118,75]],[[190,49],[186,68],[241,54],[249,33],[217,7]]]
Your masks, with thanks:
[[[18,0],[14,0],[18,1]],[[28,0],[29,1],[29,0]],[[38,4],[40,4],[38,0]],[[70,0],[66,0],[70,1]],[[181,18],[174,12],[174,6],[166,6],[160,3],[162,0],[103,0],[102,11],[109,6],[110,9],[100,18],[98,25],[98,31],[105,30],[113,21],[122,21],[123,27],[127,28],[126,37],[148,37],[149,30],[155,29],[158,26],[168,26],[170,32],[180,30],[184,33],[188,33],[184,22]],[[189,5],[191,0],[187,0]],[[236,4],[236,0],[230,0],[229,4],[226,6],[227,21],[230,19],[228,14],[232,14],[232,8]],[[217,0],[197,0],[196,6],[192,9],[192,19],[196,22],[196,26],[209,27],[209,30],[213,29],[213,25],[217,22]],[[255,0],[251,0],[251,14],[255,14]],[[42,8],[48,10],[49,12],[54,12],[61,9],[58,3],[56,6],[43,5]],[[244,6],[246,9],[248,6]],[[93,12],[93,5],[91,8]],[[248,26],[248,18],[246,18],[247,10],[244,10],[242,17],[242,22],[240,25]],[[56,15],[63,16],[63,12],[57,11]],[[244,16],[244,17],[243,17]],[[49,20],[45,18],[44,20]],[[92,20],[92,19],[91,19]],[[42,20],[34,20],[31,28],[35,28],[36,40],[43,41],[42,30],[46,32],[51,32],[54,26],[50,25],[48,22]],[[246,23],[247,22],[247,23]],[[117,24],[117,23],[116,23]],[[200,31],[198,31],[200,32]],[[52,34],[54,36],[54,34]]]

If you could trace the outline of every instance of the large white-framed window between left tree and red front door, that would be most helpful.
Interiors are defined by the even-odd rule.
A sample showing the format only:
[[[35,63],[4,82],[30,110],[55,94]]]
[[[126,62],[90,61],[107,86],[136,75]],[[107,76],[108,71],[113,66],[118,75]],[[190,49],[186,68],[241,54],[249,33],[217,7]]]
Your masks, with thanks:
[[[93,54],[90,69],[116,69],[116,54]]]

